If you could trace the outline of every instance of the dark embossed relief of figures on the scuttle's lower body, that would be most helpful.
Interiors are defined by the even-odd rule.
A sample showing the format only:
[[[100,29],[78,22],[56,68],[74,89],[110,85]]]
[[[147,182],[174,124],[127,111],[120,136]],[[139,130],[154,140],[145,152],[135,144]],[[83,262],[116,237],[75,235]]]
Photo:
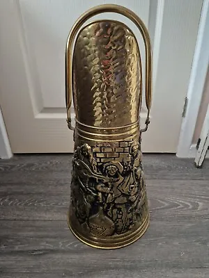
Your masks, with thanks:
[[[77,147],[72,160],[72,207],[82,229],[93,236],[123,234],[145,216],[144,174],[139,142],[130,147]],[[103,152],[93,152],[102,150]],[[108,152],[109,151],[109,152]],[[125,154],[125,156],[123,156]],[[113,159],[101,163],[105,156]],[[118,161],[122,156],[122,161]],[[99,158],[99,159],[98,159]],[[108,160],[108,159],[107,159]]]

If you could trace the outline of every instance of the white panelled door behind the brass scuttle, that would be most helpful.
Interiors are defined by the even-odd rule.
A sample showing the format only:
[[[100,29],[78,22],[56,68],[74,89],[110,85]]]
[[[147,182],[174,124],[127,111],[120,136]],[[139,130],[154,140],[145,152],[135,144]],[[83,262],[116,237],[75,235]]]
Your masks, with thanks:
[[[153,106],[142,149],[176,152],[203,1],[111,2],[139,15],[153,44]],[[14,153],[72,152],[65,122],[65,42],[77,17],[101,3],[109,1],[0,1],[0,103]],[[99,18],[121,20],[139,38],[123,16]],[[145,117],[143,104],[141,122]]]

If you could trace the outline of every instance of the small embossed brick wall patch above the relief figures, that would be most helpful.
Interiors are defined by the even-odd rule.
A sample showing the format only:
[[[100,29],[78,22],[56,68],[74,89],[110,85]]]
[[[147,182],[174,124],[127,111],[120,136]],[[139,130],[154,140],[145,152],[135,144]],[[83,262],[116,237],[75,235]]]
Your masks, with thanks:
[[[93,155],[98,163],[106,163],[114,161],[117,158],[117,161],[120,162],[130,162],[130,147],[132,141],[130,142],[114,142],[114,147],[107,145],[107,147],[93,147]]]

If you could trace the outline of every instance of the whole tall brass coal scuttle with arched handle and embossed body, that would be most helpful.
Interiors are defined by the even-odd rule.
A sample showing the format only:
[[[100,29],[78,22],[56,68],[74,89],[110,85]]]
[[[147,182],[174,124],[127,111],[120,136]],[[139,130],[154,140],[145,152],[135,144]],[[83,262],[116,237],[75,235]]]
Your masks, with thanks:
[[[142,72],[134,34],[125,24],[113,20],[95,21],[81,28],[93,15],[106,12],[130,18],[144,38],[148,109],[144,129],[139,127]],[[72,27],[65,58],[67,122],[75,140],[68,224],[88,245],[123,247],[141,237],[149,222],[141,165],[141,133],[150,122],[148,31],[127,8],[98,6],[84,13]],[[71,91],[75,128],[70,118]]]

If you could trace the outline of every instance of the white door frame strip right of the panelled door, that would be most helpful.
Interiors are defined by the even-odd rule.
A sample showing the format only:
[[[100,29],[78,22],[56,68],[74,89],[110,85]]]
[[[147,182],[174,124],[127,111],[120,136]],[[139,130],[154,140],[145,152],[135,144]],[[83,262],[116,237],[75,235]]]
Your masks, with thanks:
[[[192,143],[196,120],[201,105],[203,89],[209,63],[209,0],[203,1],[199,31],[192,62],[192,70],[187,90],[187,107],[180,129],[180,137],[176,156],[179,158],[195,158],[196,144]]]

